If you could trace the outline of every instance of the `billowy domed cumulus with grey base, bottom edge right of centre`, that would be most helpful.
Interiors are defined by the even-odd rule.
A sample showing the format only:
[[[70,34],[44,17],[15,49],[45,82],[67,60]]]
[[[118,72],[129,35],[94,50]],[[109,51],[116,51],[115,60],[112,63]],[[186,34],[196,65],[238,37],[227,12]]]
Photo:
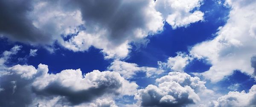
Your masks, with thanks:
[[[158,86],[148,85],[135,94],[137,104],[151,107],[184,107],[200,101],[197,93],[204,91],[205,82],[187,73],[169,72],[156,80]]]

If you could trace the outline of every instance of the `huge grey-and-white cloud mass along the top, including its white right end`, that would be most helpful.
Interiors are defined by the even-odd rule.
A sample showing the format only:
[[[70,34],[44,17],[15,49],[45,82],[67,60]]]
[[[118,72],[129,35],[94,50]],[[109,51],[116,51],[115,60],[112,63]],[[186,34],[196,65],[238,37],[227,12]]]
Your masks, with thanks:
[[[125,58],[129,43],[203,20],[202,0],[12,0],[1,1],[0,35],[11,40],[52,47],[57,41],[73,51],[91,46],[105,58]],[[165,3],[166,5],[162,5]],[[19,11],[16,11],[19,10]],[[194,11],[195,10],[195,11]]]

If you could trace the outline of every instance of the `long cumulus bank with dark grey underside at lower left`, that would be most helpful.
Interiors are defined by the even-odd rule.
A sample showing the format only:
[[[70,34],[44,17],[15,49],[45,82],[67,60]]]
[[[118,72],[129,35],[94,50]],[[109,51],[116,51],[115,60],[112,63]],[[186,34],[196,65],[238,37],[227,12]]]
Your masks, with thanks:
[[[104,105],[113,102],[96,100],[104,96],[133,95],[137,84],[122,78],[117,72],[94,70],[82,75],[80,69],[67,69],[49,74],[48,66],[39,64],[35,69],[28,65],[15,65],[1,74],[0,106],[79,105],[98,102]]]

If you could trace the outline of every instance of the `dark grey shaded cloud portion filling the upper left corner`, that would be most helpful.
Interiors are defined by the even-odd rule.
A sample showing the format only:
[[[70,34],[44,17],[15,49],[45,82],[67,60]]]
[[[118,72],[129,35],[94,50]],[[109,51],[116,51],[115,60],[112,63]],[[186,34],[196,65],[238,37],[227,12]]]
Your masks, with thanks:
[[[1,0],[0,35],[23,43],[51,43],[51,35],[36,28],[28,18],[32,10],[31,0]]]

